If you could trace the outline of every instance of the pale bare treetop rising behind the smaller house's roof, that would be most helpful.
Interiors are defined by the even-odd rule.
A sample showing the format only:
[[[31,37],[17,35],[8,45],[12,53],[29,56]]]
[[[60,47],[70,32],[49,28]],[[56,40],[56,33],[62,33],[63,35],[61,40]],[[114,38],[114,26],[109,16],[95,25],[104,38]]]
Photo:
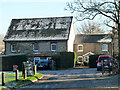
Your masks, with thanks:
[[[87,22],[81,25],[78,29],[79,33],[92,34],[92,33],[104,33],[104,30],[100,28],[100,25],[95,22]]]

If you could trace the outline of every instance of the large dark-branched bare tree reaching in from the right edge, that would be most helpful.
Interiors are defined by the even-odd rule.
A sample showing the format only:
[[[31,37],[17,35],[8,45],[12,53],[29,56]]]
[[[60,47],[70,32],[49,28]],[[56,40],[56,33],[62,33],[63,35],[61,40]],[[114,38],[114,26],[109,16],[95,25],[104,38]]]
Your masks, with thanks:
[[[120,63],[120,0],[74,0],[74,2],[67,3],[66,10],[74,13],[77,21],[93,20],[98,15],[106,17],[105,24],[118,31],[118,57]]]

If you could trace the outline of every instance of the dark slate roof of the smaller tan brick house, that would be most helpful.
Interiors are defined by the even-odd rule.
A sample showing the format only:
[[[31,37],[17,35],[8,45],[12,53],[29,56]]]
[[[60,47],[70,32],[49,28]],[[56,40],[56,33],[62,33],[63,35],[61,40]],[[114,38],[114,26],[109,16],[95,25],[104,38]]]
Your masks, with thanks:
[[[75,37],[74,44],[100,42],[110,43],[111,41],[111,34],[78,34]]]

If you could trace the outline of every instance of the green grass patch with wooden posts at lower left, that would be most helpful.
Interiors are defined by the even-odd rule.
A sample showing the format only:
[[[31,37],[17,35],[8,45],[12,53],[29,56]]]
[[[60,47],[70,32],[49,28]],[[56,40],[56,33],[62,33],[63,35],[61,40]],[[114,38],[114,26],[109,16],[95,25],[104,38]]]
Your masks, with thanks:
[[[42,74],[37,73],[34,76],[29,76],[29,77],[27,77],[27,79],[24,79],[22,76],[22,73],[19,73],[19,80],[16,81],[15,80],[15,73],[6,73],[5,74],[5,87],[6,88],[16,87],[16,86],[19,86],[21,84],[30,82],[32,80],[38,80],[42,76],[43,76]],[[1,74],[0,74],[0,84],[2,84],[2,75]],[[0,87],[0,89],[1,89],[1,87]]]

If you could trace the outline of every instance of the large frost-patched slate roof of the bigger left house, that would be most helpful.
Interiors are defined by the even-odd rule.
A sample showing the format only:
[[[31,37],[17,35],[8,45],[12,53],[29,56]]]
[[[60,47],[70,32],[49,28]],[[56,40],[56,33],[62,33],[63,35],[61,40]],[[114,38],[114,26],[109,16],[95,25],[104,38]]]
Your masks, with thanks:
[[[12,19],[4,41],[67,40],[72,16]]]

